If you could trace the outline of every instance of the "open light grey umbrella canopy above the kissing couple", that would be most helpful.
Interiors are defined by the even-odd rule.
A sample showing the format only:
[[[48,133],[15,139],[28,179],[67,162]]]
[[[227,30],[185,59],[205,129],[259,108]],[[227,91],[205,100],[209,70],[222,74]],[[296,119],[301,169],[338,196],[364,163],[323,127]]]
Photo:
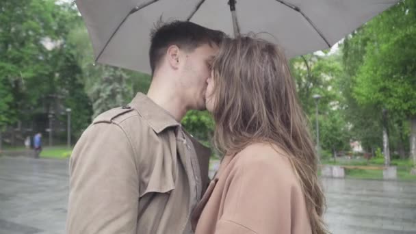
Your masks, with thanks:
[[[150,72],[155,23],[192,21],[229,35],[254,33],[287,57],[327,49],[398,0],[77,0],[95,62]]]

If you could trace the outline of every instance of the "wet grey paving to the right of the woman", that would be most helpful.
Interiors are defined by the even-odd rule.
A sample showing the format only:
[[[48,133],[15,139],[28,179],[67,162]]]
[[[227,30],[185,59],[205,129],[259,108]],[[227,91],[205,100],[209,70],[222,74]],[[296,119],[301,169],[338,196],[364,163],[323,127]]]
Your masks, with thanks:
[[[324,179],[334,234],[416,233],[416,183]]]

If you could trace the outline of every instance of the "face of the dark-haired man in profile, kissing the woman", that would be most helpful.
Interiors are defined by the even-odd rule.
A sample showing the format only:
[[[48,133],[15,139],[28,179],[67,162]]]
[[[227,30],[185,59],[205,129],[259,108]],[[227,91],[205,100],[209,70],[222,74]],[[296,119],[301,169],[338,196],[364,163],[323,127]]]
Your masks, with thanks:
[[[181,86],[190,109],[205,109],[207,79],[211,76],[211,65],[218,47],[203,44],[187,53]]]

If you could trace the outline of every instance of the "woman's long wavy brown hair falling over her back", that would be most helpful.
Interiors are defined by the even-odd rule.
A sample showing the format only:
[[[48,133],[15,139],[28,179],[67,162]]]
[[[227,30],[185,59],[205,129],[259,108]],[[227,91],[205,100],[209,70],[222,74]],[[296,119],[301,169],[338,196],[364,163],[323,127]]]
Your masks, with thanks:
[[[218,150],[234,155],[253,142],[283,149],[300,181],[312,233],[328,233],[318,159],[283,51],[249,36],[226,38],[212,67]]]

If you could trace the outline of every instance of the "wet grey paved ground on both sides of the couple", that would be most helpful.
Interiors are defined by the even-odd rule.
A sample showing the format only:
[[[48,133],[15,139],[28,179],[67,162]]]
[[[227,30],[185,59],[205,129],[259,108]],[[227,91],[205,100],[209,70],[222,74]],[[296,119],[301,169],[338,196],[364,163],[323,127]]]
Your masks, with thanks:
[[[416,233],[416,183],[324,179],[324,187],[334,234]],[[0,157],[0,233],[64,233],[67,193],[67,160]]]

